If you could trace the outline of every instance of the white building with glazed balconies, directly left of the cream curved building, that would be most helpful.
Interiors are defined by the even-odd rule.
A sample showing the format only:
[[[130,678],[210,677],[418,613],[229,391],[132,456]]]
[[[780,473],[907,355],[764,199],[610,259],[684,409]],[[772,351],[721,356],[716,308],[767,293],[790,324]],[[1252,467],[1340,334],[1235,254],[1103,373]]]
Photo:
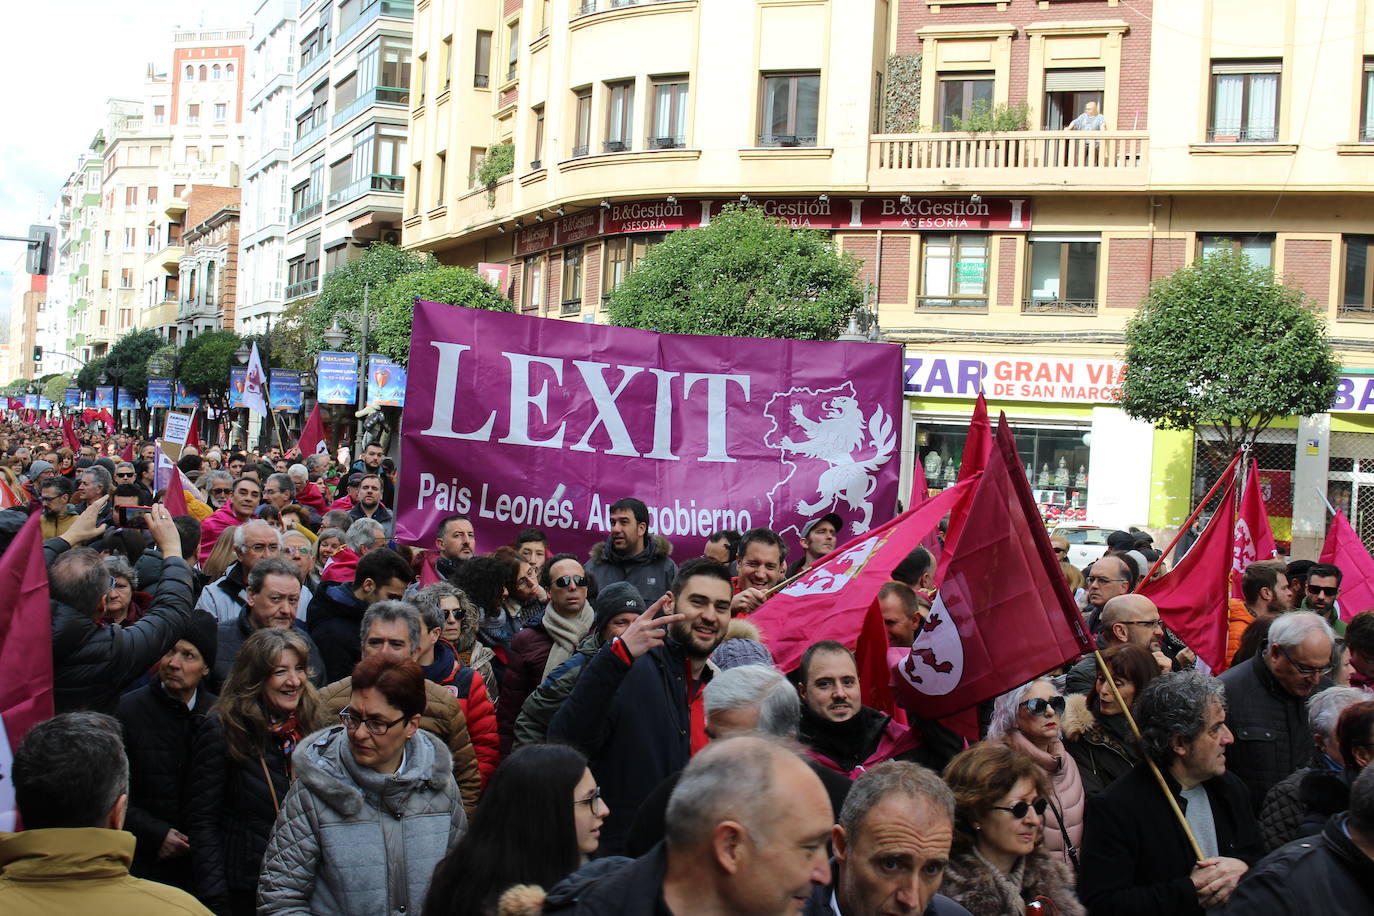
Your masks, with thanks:
[[[298,59],[286,302],[375,242],[400,243],[411,85],[409,0],[311,0]]]

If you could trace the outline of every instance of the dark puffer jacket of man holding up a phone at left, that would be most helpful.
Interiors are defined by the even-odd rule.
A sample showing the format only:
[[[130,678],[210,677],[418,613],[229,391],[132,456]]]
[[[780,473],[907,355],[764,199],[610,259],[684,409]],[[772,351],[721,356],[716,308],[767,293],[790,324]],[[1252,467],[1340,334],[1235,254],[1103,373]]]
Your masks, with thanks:
[[[43,545],[48,566],[67,542]],[[113,715],[120,691],[181,639],[191,621],[191,569],[185,560],[162,560],[153,606],[131,626],[98,626],[92,610],[52,602],[52,703],[55,711],[93,710]]]

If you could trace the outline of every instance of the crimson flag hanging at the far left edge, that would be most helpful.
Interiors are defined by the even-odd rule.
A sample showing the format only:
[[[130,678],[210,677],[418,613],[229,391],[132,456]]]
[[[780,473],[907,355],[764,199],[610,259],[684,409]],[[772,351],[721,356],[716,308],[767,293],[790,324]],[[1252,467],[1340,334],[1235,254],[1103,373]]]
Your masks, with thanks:
[[[14,751],[30,728],[52,718],[52,608],[43,564],[41,512],[0,556],[0,831],[16,829]]]

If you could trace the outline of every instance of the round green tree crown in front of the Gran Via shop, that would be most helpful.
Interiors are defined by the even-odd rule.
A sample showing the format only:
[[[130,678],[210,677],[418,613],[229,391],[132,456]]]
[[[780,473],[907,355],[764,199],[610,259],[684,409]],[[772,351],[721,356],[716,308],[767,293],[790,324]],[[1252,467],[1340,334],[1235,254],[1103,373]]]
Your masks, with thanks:
[[[1156,280],[1127,324],[1121,408],[1167,430],[1212,428],[1230,455],[1281,416],[1327,411],[1338,375],[1303,293],[1219,253]]]

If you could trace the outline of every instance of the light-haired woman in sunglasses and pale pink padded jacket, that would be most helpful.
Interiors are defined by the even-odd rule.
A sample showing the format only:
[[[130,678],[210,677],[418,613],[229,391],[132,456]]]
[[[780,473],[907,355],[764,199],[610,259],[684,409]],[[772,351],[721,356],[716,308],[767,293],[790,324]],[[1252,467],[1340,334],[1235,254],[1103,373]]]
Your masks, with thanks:
[[[998,698],[992,707],[988,739],[1000,740],[1033,759],[1050,781],[1044,821],[1044,846],[1077,869],[1083,842],[1083,809],[1087,797],[1079,765],[1063,750],[1059,717],[1065,700],[1054,681],[1040,677]]]

